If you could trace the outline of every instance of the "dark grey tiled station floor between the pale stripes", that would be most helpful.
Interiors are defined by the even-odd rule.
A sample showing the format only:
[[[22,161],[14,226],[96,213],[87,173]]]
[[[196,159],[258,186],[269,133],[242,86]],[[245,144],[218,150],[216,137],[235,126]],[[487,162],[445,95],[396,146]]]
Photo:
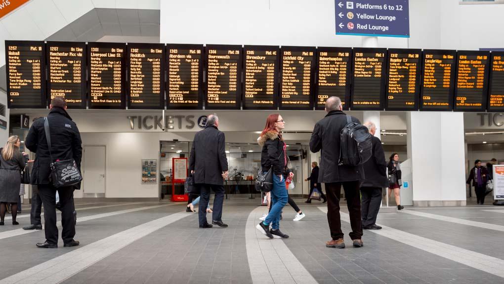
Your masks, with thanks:
[[[364,231],[364,247],[352,248],[348,237],[350,224],[345,222],[342,222],[342,228],[346,234],[347,248],[326,248],[325,241],[330,239],[328,223],[326,214],[317,207],[323,204],[315,201],[311,205],[304,205],[302,201],[296,200],[307,217],[300,222],[293,222],[294,211],[287,204],[281,229],[291,237],[279,241],[286,244],[297,261],[319,283],[504,283],[504,278],[368,231]],[[229,228],[199,229],[197,213],[187,213],[187,217],[78,271],[64,283],[252,283],[245,244],[245,224],[250,212],[257,208],[259,199],[225,202],[223,221]],[[101,201],[96,205],[108,204],[120,203]],[[82,210],[79,217],[158,204],[163,203],[145,202]],[[81,207],[89,206],[93,205]],[[26,208],[25,205],[25,212],[28,212]],[[77,248],[64,248],[60,243],[58,249],[37,249],[34,244],[44,239],[43,231],[2,239],[0,246],[4,257],[0,264],[0,281],[71,250],[84,248],[86,244],[184,209],[183,204],[167,205],[81,222],[76,228],[76,239],[82,245]],[[504,214],[479,208],[412,209],[504,226]],[[346,211],[346,208],[342,210]],[[211,215],[207,218],[211,220]],[[27,225],[28,220],[20,219],[21,225]],[[500,246],[502,232],[402,213],[381,214],[377,223],[503,258]],[[0,232],[19,228],[6,225],[0,228]],[[274,272],[274,269],[270,267],[270,271],[264,273]]]

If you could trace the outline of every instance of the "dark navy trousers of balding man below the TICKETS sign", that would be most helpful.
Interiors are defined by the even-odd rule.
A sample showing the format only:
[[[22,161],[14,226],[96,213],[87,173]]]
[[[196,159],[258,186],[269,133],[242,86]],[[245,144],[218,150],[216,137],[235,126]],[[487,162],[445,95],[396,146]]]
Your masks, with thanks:
[[[210,201],[210,191],[215,192],[214,207],[212,209],[213,221],[222,221],[222,203],[224,202],[224,186],[217,184],[200,183],[196,186],[200,187],[200,204],[198,210],[198,219],[200,226],[208,224],[207,221],[207,205]]]

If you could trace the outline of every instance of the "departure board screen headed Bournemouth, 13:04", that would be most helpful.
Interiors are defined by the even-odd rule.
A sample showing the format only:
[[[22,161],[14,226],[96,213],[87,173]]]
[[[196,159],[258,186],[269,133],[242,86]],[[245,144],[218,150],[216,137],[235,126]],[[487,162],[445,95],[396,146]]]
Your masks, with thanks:
[[[205,109],[240,109],[241,45],[207,45]]]

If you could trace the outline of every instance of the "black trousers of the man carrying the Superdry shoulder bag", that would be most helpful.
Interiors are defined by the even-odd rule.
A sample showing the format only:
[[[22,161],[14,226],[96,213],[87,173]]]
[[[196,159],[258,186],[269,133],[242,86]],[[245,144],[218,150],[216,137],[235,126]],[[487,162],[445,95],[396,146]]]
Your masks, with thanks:
[[[39,184],[38,193],[44,204],[44,231],[45,239],[48,243],[56,244],[58,242],[58,228],[56,227],[56,190],[59,194],[59,204],[61,205],[61,239],[68,243],[75,236],[74,219],[74,187],[55,188],[50,184]]]

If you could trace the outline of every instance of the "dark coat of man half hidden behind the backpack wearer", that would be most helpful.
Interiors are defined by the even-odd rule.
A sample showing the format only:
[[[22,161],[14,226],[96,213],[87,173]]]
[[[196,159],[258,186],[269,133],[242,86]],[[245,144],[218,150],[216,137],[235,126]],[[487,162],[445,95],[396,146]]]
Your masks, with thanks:
[[[372,157],[362,165],[366,178],[360,187],[388,187],[387,160],[385,160],[382,141],[378,137],[372,136],[371,144]]]

